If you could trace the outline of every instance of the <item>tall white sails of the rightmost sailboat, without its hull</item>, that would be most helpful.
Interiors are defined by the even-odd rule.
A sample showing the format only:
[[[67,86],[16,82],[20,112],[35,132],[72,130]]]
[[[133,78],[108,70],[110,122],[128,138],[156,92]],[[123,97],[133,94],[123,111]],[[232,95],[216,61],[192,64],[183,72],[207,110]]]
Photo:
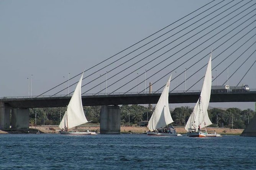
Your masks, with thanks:
[[[194,128],[197,131],[198,125],[200,125],[201,128],[204,128],[212,124],[211,120],[208,117],[208,112],[207,112],[209,101],[210,101],[210,95],[211,95],[211,86],[212,86],[212,53],[210,54],[210,59],[208,61],[200,97],[197,103],[195,104],[195,107],[189,117],[189,120],[187,121],[185,130],[189,131],[189,128]]]

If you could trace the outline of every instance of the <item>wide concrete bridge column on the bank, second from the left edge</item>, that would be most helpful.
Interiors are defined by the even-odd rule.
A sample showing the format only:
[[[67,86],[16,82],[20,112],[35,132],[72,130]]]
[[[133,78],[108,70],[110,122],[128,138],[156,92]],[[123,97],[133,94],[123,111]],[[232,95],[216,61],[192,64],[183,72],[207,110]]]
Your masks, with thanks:
[[[11,128],[27,129],[29,128],[30,110],[29,109],[12,109]]]

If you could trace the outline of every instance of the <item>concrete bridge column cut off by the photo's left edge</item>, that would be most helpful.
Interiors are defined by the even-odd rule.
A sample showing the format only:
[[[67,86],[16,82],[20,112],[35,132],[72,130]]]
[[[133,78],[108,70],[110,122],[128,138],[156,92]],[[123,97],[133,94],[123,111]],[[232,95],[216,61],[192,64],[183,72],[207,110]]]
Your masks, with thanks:
[[[10,109],[0,102],[0,129],[10,128]]]

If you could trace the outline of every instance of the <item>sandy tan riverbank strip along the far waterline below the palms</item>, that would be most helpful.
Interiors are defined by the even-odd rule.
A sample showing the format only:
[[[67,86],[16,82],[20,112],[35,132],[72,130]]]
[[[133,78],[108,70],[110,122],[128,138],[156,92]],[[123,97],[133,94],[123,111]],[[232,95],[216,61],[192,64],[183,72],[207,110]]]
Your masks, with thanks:
[[[81,125],[77,126],[71,130],[73,131],[85,131],[90,130],[92,132],[100,132],[100,125]],[[184,127],[175,127],[177,133],[186,134]],[[6,129],[0,130],[0,134],[36,134],[36,133],[59,133],[60,128],[56,125],[42,125],[42,126],[31,126],[28,129]],[[146,134],[147,127],[139,126],[121,126],[121,134]],[[208,132],[215,131],[221,135],[241,135],[244,129],[230,129],[230,128],[212,128],[207,127]]]

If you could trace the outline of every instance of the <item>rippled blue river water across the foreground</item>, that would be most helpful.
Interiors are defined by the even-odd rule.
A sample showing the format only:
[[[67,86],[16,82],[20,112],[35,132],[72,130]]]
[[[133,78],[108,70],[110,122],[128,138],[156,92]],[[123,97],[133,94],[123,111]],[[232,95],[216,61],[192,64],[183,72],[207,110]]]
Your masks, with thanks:
[[[0,135],[1,170],[256,169],[256,138]]]

